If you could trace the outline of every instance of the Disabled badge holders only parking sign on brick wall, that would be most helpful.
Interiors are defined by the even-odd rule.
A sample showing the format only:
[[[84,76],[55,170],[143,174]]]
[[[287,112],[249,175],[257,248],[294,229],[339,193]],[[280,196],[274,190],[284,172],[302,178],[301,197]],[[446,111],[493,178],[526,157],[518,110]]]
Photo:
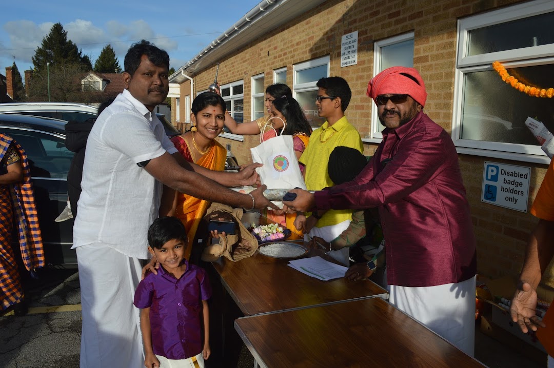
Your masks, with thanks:
[[[527,212],[531,168],[485,161],[481,201]]]

